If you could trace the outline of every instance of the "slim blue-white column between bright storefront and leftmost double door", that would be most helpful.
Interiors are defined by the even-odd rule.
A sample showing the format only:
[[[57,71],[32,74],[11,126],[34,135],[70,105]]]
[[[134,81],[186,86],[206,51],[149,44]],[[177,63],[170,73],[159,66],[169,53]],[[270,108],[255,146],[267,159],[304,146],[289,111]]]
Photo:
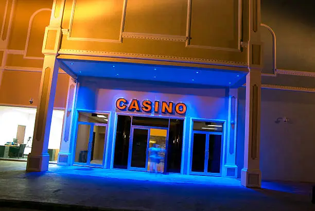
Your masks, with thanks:
[[[71,165],[71,140],[73,135],[73,122],[75,117],[75,102],[77,96],[77,81],[69,79],[66,109],[63,117],[63,127],[60,151],[58,154],[58,165]]]

